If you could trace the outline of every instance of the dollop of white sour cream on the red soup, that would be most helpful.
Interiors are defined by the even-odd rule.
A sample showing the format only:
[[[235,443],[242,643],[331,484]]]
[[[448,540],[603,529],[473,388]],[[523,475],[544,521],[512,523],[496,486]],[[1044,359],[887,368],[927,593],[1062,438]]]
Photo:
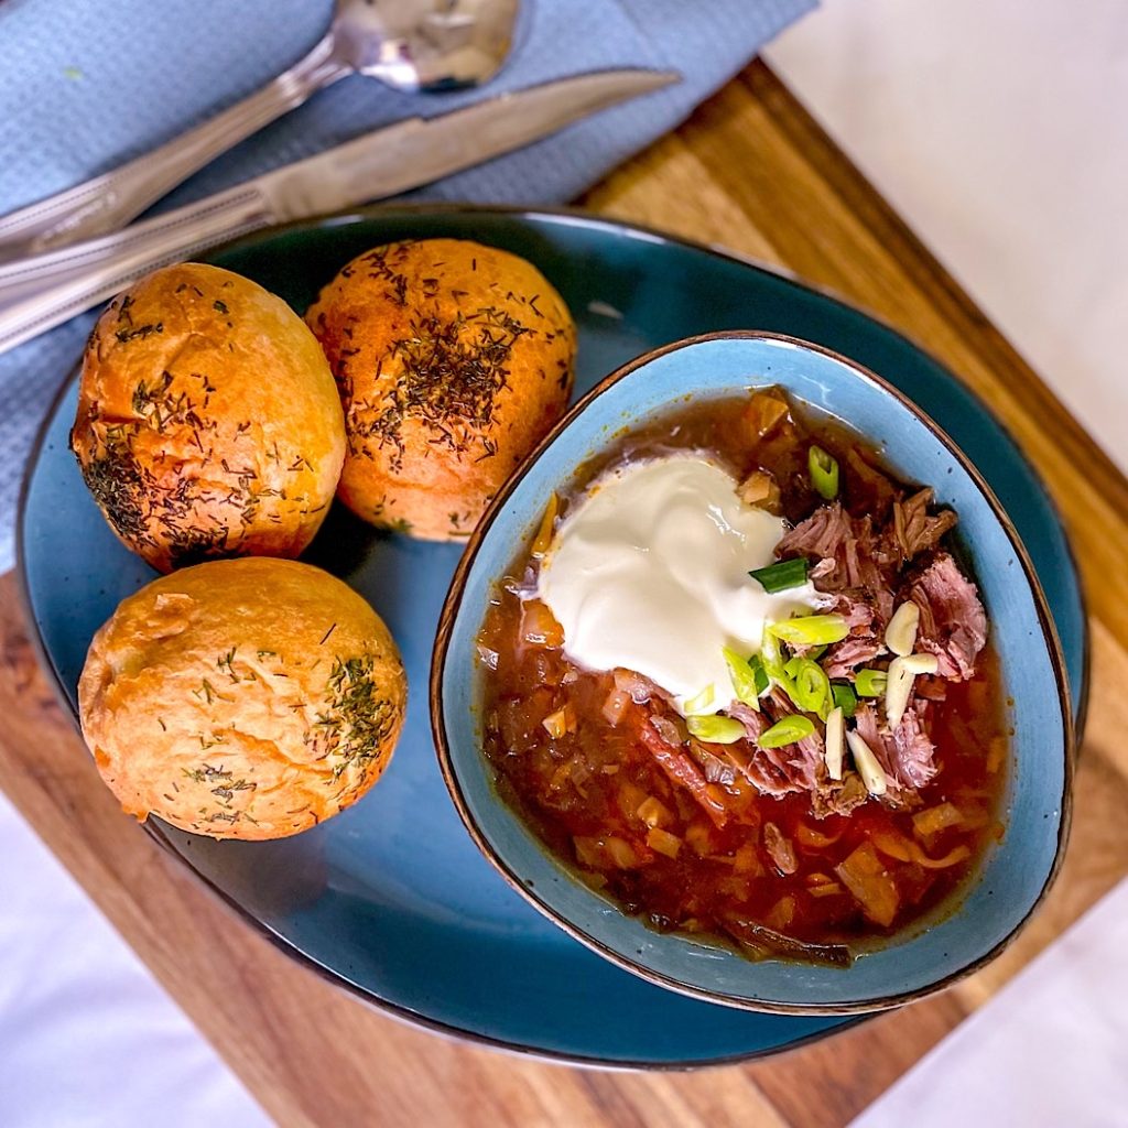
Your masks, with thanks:
[[[702,712],[733,703],[722,649],[758,653],[765,623],[809,614],[818,599],[810,583],[768,594],[749,578],[774,563],[786,526],[735,491],[732,475],[698,452],[597,478],[557,528],[538,580],[573,662],[634,670],[682,713],[707,687]]]

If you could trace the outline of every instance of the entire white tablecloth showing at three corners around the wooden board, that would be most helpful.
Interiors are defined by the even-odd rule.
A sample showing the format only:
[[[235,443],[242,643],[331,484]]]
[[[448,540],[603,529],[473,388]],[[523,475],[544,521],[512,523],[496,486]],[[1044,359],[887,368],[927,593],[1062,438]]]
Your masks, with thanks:
[[[769,58],[1128,466],[1128,7],[826,0]],[[0,800],[0,1125],[265,1117]],[[1128,1123],[1128,887],[857,1128]]]

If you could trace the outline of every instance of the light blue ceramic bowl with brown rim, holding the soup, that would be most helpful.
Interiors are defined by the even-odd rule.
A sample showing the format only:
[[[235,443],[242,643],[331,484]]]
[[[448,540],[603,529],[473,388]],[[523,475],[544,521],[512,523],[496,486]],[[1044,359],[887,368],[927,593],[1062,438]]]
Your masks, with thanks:
[[[960,514],[1013,705],[1006,832],[955,900],[862,950],[847,969],[751,961],[698,937],[659,934],[593,892],[540,845],[494,788],[482,752],[475,637],[491,589],[528,544],[549,495],[613,434],[687,394],[778,385],[880,448],[905,481],[935,487]],[[455,575],[435,645],[431,712],[447,785],[478,847],[502,875],[576,940],[660,986],[729,1006],[801,1014],[875,1011],[949,986],[1002,951],[1046,895],[1069,825],[1073,715],[1057,634],[1030,559],[982,477],[898,390],[817,345],[765,333],[682,341],[627,364],[580,400],[495,499]]]

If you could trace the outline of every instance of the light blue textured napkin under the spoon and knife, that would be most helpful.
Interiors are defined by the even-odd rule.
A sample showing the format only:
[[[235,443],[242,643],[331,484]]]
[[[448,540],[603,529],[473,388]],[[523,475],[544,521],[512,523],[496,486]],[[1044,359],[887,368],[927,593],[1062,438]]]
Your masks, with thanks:
[[[671,130],[816,0],[525,0],[487,87],[404,95],[350,77],[202,169],[156,210],[310,156],[397,118],[613,67],[684,81],[413,195],[558,203]],[[250,94],[328,26],[331,0],[7,0],[0,3],[0,214],[106,171]],[[39,421],[95,314],[0,356],[0,571]]]

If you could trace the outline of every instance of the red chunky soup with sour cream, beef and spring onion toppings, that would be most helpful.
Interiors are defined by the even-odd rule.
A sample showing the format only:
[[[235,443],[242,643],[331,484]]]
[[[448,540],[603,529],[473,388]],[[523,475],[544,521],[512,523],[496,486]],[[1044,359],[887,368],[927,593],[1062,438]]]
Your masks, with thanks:
[[[775,389],[553,497],[479,638],[502,796],[625,911],[848,962],[1001,834],[1007,730],[957,514]]]

